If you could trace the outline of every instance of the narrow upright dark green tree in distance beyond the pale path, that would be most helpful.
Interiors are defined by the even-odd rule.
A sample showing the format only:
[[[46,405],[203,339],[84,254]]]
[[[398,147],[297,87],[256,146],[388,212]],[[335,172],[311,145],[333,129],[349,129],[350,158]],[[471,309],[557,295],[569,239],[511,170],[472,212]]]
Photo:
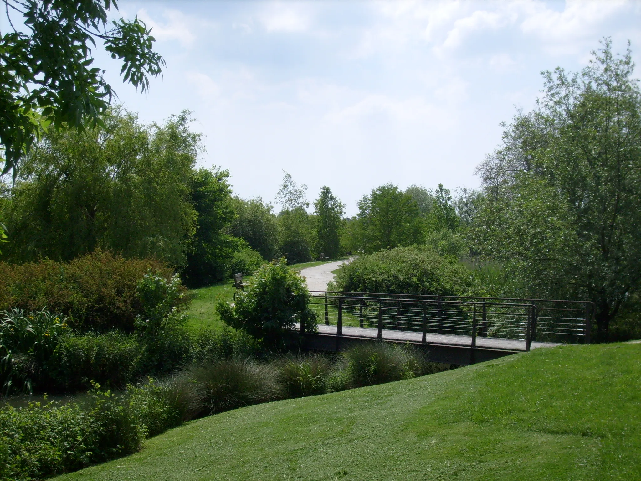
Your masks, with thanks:
[[[317,251],[324,253],[325,257],[335,259],[340,255],[340,235],[345,205],[331,193],[329,187],[322,187],[314,207],[318,238]]]

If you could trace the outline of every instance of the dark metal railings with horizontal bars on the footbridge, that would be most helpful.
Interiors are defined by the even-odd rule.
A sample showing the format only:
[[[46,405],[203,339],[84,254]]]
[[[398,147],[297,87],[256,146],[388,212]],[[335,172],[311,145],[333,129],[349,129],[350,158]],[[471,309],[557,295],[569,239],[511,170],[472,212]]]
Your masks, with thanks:
[[[594,305],[583,301],[312,291],[319,324],[531,342],[588,343]]]

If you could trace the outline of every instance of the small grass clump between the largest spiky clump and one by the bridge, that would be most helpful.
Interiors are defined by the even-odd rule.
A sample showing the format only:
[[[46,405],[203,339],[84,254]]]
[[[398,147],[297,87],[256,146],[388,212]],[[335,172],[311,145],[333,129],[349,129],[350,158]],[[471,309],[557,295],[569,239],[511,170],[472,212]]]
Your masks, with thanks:
[[[276,362],[281,380],[291,398],[313,396],[327,391],[331,362],[321,354],[287,355]]]

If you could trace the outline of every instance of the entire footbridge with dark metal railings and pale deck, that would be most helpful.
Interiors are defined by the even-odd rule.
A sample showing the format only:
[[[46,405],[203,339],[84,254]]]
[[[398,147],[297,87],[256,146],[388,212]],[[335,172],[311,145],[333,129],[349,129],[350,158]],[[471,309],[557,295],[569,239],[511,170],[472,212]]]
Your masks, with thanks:
[[[474,364],[520,351],[590,342],[594,304],[545,299],[311,291],[318,332],[304,347],[341,351],[363,342],[422,346],[428,359]]]

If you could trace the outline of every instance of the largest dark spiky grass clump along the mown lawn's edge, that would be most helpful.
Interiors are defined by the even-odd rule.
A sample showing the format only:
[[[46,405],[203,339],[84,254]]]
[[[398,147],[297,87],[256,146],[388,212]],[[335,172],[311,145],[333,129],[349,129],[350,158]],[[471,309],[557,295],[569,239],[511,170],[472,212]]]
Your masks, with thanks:
[[[196,382],[211,413],[283,397],[278,371],[250,359],[209,362],[187,369],[184,375]]]

